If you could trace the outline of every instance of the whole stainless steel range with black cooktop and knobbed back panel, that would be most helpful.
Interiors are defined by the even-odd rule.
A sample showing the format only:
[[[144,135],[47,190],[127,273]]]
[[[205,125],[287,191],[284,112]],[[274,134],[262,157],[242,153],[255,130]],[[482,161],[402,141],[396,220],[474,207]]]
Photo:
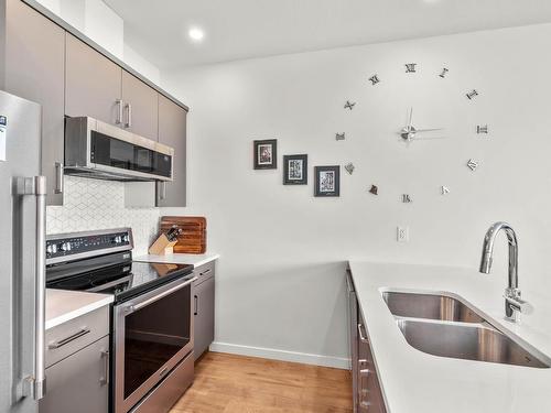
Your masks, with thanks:
[[[132,262],[130,228],[50,236],[46,286],[112,294],[111,407],[162,413],[193,381],[193,265]]]

